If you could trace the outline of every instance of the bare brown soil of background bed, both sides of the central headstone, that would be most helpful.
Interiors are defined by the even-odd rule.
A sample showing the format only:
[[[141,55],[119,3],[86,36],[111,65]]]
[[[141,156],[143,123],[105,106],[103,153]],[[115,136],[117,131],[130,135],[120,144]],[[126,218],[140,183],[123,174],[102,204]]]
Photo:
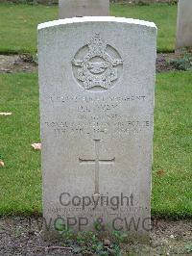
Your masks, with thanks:
[[[177,59],[180,54],[158,53],[156,58],[156,72],[177,70],[170,60]],[[36,72],[37,64],[30,55],[0,55],[0,73]]]

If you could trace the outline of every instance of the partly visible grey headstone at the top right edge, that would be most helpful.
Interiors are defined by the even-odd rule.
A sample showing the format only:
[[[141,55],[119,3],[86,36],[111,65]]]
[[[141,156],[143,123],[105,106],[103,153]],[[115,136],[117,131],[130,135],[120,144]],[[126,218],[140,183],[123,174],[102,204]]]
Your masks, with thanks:
[[[180,0],[176,48],[192,46],[192,0]]]

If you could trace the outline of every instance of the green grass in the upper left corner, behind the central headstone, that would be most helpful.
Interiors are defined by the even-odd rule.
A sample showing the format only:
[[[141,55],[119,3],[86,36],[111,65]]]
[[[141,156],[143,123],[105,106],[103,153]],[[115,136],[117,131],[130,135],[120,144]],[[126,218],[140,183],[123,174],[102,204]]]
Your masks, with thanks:
[[[57,19],[57,7],[0,4],[0,52],[36,52],[38,23]]]

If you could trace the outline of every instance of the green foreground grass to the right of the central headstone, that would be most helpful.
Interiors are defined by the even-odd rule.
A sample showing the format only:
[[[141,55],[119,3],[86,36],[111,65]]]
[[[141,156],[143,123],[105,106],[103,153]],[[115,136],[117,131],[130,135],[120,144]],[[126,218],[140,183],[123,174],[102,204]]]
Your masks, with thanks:
[[[156,78],[153,213],[192,217],[192,73]]]

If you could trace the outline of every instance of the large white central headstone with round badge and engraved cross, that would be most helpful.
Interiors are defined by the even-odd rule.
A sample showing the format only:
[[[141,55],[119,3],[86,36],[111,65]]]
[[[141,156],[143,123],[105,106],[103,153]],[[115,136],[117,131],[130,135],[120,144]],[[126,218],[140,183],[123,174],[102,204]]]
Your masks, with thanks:
[[[148,238],[156,25],[43,23],[38,58],[44,218]]]

